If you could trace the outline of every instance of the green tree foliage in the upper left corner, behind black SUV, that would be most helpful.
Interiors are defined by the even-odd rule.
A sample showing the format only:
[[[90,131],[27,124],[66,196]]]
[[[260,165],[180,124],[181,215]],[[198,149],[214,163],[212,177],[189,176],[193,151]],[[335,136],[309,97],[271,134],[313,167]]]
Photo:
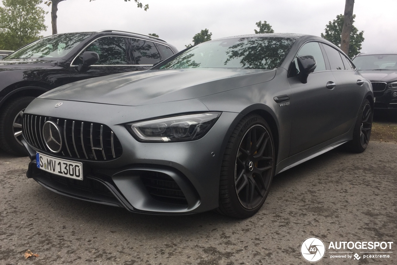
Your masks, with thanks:
[[[0,49],[16,50],[40,39],[46,30],[44,15],[39,7],[42,0],[3,0],[0,6]]]

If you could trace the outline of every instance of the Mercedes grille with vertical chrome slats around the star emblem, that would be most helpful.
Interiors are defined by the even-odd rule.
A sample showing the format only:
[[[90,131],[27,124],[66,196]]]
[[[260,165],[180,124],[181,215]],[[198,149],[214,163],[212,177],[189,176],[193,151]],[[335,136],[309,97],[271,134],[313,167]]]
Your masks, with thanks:
[[[123,150],[117,136],[106,125],[56,117],[23,114],[24,138],[36,148],[52,153],[42,135],[46,121],[56,123],[61,131],[62,149],[57,156],[81,160],[105,161],[121,156]]]

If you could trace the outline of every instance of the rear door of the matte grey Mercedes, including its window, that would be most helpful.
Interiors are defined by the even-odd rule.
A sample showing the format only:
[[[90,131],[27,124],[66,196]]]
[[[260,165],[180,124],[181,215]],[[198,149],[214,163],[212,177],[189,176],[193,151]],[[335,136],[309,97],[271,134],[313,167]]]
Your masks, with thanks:
[[[357,117],[357,111],[360,109],[365,93],[360,82],[363,78],[355,71],[355,66],[343,53],[329,45],[322,45],[331,66],[333,64],[339,65],[338,67],[331,67],[331,70],[337,81],[335,92],[338,94],[338,109],[337,113],[335,113],[334,123],[340,123],[335,133],[341,135],[349,131]],[[338,56],[341,60],[339,60]]]

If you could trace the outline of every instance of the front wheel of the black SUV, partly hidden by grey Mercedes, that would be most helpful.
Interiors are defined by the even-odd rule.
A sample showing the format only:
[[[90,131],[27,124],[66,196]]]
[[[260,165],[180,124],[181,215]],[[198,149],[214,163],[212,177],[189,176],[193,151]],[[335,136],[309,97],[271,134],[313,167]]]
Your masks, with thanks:
[[[35,97],[18,97],[7,102],[0,112],[0,146],[15,156],[28,155],[25,146],[20,142],[22,129],[18,125],[21,124],[23,111],[33,99]],[[14,133],[18,133],[16,137]]]

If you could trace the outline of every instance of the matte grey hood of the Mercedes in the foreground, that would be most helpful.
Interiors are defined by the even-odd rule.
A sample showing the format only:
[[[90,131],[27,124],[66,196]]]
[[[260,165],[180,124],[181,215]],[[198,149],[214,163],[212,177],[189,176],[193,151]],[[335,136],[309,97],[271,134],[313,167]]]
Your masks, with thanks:
[[[216,94],[272,80],[276,70],[146,70],[92,78],[61,86],[40,98],[112,105],[147,105]]]

